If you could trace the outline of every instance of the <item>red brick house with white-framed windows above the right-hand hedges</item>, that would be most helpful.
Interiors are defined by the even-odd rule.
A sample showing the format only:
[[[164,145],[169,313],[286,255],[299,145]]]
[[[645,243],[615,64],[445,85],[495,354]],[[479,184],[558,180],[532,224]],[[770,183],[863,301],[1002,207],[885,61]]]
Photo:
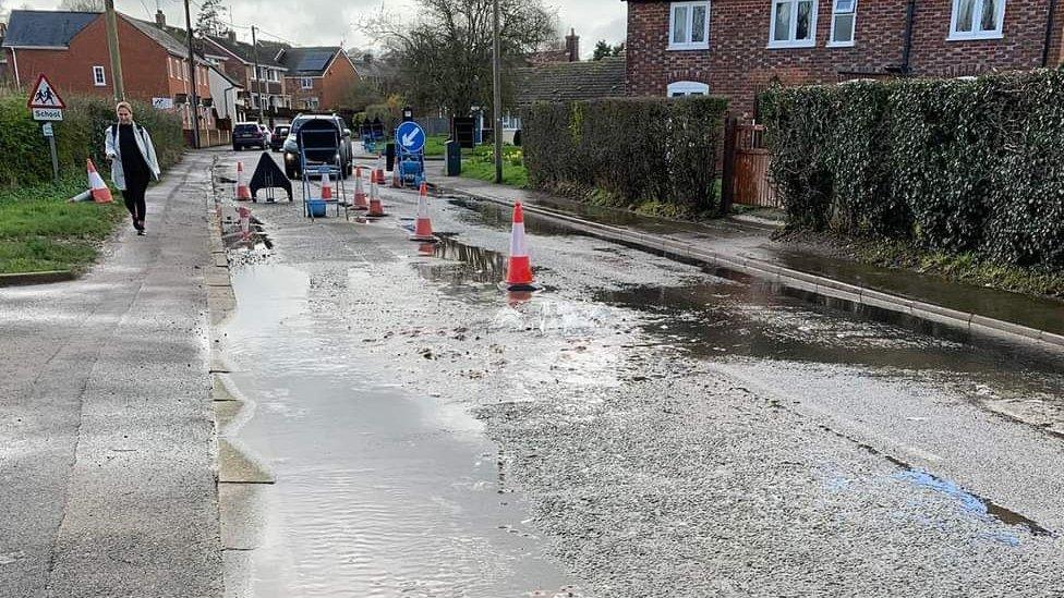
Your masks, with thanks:
[[[1055,68],[1064,52],[1055,0],[627,1],[628,95],[721,95],[748,114],[774,81]]]

